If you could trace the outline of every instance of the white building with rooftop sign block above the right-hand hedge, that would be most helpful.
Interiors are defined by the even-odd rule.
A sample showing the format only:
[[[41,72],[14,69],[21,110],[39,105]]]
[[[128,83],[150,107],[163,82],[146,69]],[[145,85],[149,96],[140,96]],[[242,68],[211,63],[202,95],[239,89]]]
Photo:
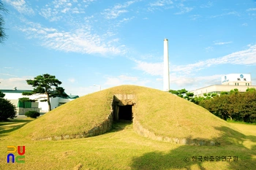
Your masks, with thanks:
[[[194,96],[200,97],[204,93],[221,93],[222,91],[229,92],[237,88],[239,92],[246,92],[247,88],[256,88],[252,85],[251,74],[227,74],[222,77],[222,85],[210,85],[205,88],[198,88],[189,92],[194,93]]]

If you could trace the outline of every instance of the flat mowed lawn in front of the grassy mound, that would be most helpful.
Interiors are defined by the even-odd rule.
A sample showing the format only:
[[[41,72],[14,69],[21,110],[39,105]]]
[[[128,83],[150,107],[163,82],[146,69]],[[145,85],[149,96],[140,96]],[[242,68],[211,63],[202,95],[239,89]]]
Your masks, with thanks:
[[[22,121],[15,120],[18,128]],[[18,131],[14,122],[12,125],[9,130]],[[229,125],[243,135],[240,144],[158,142],[136,134],[132,123],[115,123],[107,134],[63,141],[32,141],[0,131],[0,169],[255,169],[256,125]],[[7,163],[8,145],[26,146],[25,163]],[[197,161],[192,161],[193,156]],[[214,161],[199,161],[200,156],[214,156]],[[216,156],[238,156],[238,161],[217,161]]]

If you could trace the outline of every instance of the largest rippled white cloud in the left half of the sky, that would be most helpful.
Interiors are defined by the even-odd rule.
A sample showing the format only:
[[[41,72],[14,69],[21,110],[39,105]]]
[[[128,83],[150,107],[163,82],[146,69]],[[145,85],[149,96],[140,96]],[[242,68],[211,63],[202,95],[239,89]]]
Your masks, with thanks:
[[[55,28],[44,28],[38,23],[20,28],[28,38],[40,39],[44,47],[64,52],[100,53],[106,55],[125,53],[124,47],[115,46],[115,41],[108,37],[91,34],[90,26],[80,26],[74,31],[58,31]]]

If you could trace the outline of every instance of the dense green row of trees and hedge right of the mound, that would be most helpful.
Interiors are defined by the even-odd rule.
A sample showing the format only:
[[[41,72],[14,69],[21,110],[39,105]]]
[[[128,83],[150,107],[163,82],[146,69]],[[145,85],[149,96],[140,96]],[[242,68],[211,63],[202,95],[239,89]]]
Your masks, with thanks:
[[[193,98],[192,94],[185,89],[170,90],[170,93],[186,98],[195,104],[208,109],[209,112],[224,120],[230,119],[246,123],[256,123],[256,90],[248,88],[245,93],[238,89],[222,92],[220,95],[204,94]]]

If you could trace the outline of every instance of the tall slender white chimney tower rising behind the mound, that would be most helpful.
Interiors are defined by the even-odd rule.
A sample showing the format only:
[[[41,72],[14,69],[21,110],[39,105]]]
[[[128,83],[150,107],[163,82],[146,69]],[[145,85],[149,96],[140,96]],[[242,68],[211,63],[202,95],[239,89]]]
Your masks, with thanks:
[[[164,91],[170,90],[168,39],[164,39]]]

